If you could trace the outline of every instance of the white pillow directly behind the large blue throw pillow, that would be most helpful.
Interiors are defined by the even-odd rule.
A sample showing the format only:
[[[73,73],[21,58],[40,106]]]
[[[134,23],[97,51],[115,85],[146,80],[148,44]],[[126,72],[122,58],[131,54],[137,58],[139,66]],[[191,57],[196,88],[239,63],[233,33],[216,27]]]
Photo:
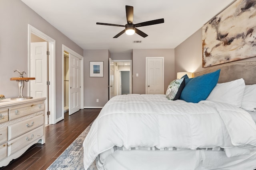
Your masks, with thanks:
[[[241,107],[244,89],[245,83],[242,78],[231,82],[219,83],[216,84],[206,100],[228,103]]]

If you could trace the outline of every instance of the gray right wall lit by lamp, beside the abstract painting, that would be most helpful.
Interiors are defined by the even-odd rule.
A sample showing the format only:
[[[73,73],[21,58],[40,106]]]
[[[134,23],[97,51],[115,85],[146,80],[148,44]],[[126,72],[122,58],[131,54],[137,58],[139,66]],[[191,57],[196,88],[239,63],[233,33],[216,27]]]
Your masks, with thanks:
[[[256,57],[240,61],[256,61]],[[202,68],[202,28],[175,48],[175,73],[199,72]]]

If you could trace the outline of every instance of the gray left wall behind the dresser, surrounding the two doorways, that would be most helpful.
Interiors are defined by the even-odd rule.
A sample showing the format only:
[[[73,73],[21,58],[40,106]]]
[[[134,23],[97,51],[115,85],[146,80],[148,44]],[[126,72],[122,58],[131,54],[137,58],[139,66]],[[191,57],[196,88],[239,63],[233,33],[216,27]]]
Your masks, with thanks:
[[[36,14],[20,0],[0,0],[0,94],[17,97],[13,70],[28,70],[28,24],[56,40],[56,118],[62,111],[62,44],[83,55],[83,49]],[[25,84],[23,94],[28,93]]]

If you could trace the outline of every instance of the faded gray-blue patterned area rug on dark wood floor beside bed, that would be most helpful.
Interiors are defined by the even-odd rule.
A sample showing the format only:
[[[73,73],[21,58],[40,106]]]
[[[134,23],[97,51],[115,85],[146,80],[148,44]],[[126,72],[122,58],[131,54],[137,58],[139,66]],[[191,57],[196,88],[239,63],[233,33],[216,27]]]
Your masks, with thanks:
[[[70,146],[47,168],[47,170],[84,170],[83,142],[92,123],[74,140]],[[97,170],[95,161],[88,170]]]

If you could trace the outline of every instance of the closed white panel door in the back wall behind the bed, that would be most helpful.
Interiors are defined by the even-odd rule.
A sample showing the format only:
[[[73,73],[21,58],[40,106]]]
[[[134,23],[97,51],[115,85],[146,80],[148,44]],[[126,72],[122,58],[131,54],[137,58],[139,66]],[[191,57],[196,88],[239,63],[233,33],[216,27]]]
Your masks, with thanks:
[[[146,94],[164,94],[163,57],[146,57]]]

